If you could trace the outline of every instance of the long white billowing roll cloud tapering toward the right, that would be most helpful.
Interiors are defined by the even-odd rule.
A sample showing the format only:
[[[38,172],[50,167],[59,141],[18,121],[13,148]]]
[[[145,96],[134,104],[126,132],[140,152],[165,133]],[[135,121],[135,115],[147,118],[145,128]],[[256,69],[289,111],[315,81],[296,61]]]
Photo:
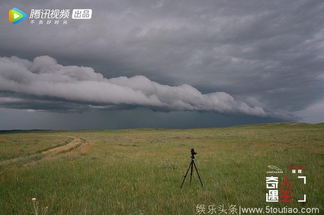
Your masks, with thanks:
[[[225,92],[203,94],[196,88],[161,85],[145,76],[105,78],[90,67],[62,66],[49,56],[30,62],[0,58],[0,104],[31,110],[123,109],[145,106],[157,111],[211,111],[285,117],[236,101]],[[288,114],[289,115],[289,114]],[[286,116],[287,117],[287,116]]]

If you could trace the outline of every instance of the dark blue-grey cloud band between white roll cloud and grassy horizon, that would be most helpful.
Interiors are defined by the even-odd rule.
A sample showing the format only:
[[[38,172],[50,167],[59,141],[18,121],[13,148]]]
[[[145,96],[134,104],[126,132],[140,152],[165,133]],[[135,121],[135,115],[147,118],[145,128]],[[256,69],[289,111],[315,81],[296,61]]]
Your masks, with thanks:
[[[197,128],[278,122],[278,119],[198,112],[153,112],[147,109],[53,113],[1,109],[0,130],[7,129],[126,129],[139,127]],[[45,122],[44,122],[45,121]],[[280,120],[282,121],[282,120]],[[6,122],[6,123],[3,123]]]

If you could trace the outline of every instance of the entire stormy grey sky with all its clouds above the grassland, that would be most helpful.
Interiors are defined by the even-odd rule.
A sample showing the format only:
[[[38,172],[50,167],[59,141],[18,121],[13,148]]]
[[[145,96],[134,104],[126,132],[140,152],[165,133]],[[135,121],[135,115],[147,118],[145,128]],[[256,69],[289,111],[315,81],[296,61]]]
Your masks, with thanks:
[[[13,25],[13,7],[93,15]],[[322,1],[2,1],[0,130],[324,122],[323,12]]]

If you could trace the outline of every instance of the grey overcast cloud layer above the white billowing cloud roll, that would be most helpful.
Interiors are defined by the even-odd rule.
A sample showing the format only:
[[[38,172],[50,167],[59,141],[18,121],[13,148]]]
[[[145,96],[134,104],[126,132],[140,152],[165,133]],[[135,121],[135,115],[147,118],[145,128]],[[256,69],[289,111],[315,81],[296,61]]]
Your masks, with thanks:
[[[92,8],[93,19],[18,26],[3,18],[1,56],[32,61],[50,55],[107,78],[143,75],[164,85],[189,84],[203,94],[224,91],[265,112],[304,110],[306,119],[308,107],[324,99],[322,1],[15,4],[3,1],[1,13],[12,7]]]

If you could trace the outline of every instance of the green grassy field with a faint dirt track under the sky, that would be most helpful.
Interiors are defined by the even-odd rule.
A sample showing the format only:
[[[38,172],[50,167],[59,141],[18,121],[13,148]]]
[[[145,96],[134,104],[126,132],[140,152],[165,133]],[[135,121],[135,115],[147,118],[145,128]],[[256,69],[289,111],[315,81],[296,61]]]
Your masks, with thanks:
[[[191,147],[204,188],[194,173],[179,189]],[[288,176],[293,202],[265,201],[268,165],[284,170],[273,175]],[[306,185],[288,165],[306,166]],[[0,174],[2,214],[31,214],[33,197],[48,214],[195,214],[197,204],[324,214],[324,124],[1,132]]]

